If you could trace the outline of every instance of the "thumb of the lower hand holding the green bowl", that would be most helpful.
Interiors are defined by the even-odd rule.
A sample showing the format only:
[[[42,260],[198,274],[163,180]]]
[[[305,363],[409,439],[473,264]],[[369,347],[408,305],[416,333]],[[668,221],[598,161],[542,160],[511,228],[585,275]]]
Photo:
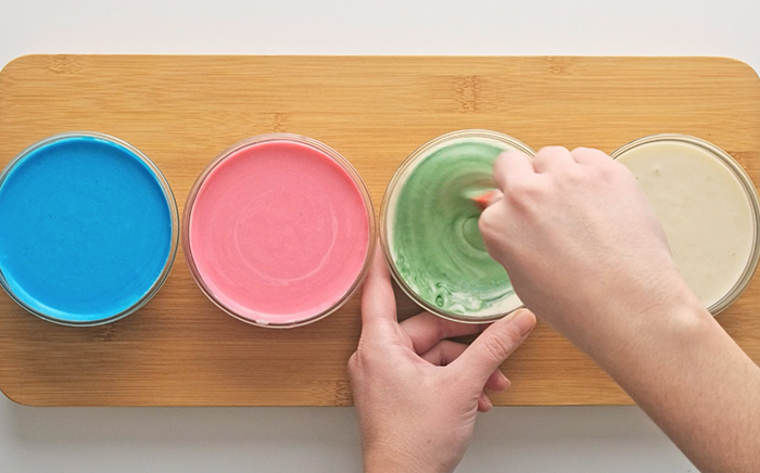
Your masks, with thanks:
[[[535,327],[535,316],[528,309],[519,309],[494,322],[457,358],[463,376],[484,386],[509,355],[528,337]]]

